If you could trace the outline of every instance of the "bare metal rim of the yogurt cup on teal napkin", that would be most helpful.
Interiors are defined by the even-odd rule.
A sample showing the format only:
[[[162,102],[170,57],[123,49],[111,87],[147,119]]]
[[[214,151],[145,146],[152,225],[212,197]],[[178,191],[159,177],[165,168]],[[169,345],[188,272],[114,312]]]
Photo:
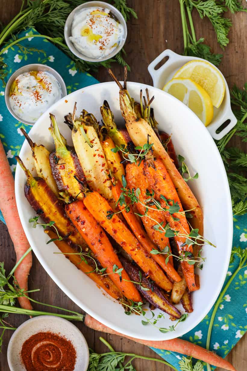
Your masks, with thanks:
[[[56,70],[54,70],[54,68],[52,68],[50,66],[47,66],[47,65],[42,65],[42,64],[39,64],[39,63],[31,63],[30,65],[22,66],[21,68],[17,69],[14,73],[12,73],[12,75],[10,76],[9,80],[7,81],[7,84],[6,84],[6,87],[5,87],[4,98],[5,98],[6,106],[9,110],[9,112],[11,113],[11,115],[15,119],[22,122],[23,124],[33,126],[35,124],[35,122],[25,121],[25,120],[21,119],[19,116],[17,116],[14,113],[14,111],[12,110],[12,108],[10,107],[10,102],[9,102],[9,91],[10,91],[10,88],[11,88],[14,80],[19,75],[21,75],[21,73],[30,72],[30,71],[50,72],[57,79],[57,81],[59,82],[59,84],[61,86],[62,95],[59,99],[61,99],[64,96],[67,95],[67,89],[66,89],[66,85],[65,85],[65,82],[64,82],[62,76]]]

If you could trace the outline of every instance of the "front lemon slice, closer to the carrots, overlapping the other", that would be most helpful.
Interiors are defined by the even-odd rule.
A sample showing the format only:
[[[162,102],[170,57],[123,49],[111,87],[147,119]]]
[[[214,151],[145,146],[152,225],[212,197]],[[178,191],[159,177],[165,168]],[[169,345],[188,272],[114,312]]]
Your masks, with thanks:
[[[210,96],[200,85],[191,79],[172,79],[163,90],[186,104],[203,122],[210,124],[214,109]]]

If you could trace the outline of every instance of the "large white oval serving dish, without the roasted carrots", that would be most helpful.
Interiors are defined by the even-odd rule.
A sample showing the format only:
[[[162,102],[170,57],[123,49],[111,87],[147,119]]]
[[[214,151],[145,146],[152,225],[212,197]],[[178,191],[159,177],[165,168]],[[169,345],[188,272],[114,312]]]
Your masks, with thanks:
[[[194,312],[188,315],[186,321],[176,327],[176,331],[166,334],[157,328],[141,324],[141,317],[125,315],[124,310],[96,284],[76,268],[59,252],[54,243],[46,244],[49,237],[42,227],[33,229],[29,218],[35,215],[34,210],[24,196],[26,178],[17,165],[15,191],[17,207],[26,236],[33,252],[47,273],[57,285],[84,311],[103,324],[123,334],[139,339],[166,340],[181,336],[196,326],[213,306],[223,285],[231,253],[233,234],[232,209],[230,191],[223,162],[212,137],[197,116],[183,103],[160,89],[140,83],[129,82],[128,90],[136,100],[140,89],[149,89],[150,96],[155,96],[153,108],[159,122],[160,130],[172,133],[177,155],[186,158],[191,173],[199,173],[199,178],[189,183],[204,213],[204,236],[217,248],[204,247],[203,255],[207,258],[200,274],[201,288],[193,293]],[[54,104],[50,112],[57,119],[61,133],[71,144],[71,131],[63,123],[64,115],[73,111],[77,102],[77,114],[82,109],[92,112],[97,120],[101,120],[100,105],[104,99],[109,102],[116,122],[123,125],[119,109],[119,89],[114,82],[106,82],[88,86],[71,93]],[[44,144],[50,151],[54,149],[53,140],[48,130],[50,125],[49,112],[43,114],[31,129],[29,135],[38,144]],[[24,164],[34,173],[31,150],[27,141],[24,142],[20,157]],[[35,173],[34,173],[35,174]],[[183,308],[178,307],[182,312]],[[160,312],[154,311],[156,315]],[[147,311],[147,316],[151,314]],[[172,323],[168,315],[158,322],[159,327],[168,328]]]

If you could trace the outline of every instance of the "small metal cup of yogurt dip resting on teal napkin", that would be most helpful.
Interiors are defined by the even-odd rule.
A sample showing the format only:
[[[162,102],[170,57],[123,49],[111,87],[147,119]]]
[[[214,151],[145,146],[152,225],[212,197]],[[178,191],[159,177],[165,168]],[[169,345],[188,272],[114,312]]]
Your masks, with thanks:
[[[45,78],[44,81],[42,77]],[[30,86],[26,86],[29,85],[28,81],[30,83],[36,81],[40,89],[35,90],[34,85],[31,87],[33,90],[30,89]],[[23,94],[19,95],[18,90],[20,92],[21,89]],[[5,103],[14,118],[24,124],[34,125],[51,105],[66,95],[66,85],[56,70],[46,65],[32,63],[19,68],[10,76],[5,88]]]

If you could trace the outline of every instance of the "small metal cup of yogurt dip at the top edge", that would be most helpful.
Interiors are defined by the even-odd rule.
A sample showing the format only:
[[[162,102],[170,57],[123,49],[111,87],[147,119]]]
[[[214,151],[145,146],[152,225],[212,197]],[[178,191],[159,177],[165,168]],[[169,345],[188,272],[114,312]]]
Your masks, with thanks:
[[[97,8],[100,8],[101,11],[90,14]],[[94,16],[91,22],[89,22],[89,14],[86,14],[86,11],[90,9],[89,14]],[[110,28],[106,29],[109,25]],[[106,31],[105,35],[100,35],[100,31]],[[124,46],[126,37],[127,25],[123,15],[113,5],[103,1],[88,1],[77,6],[69,14],[64,26],[64,38],[67,46],[74,55],[87,62],[103,62],[113,58]],[[111,45],[112,40],[114,40],[113,45]],[[107,47],[108,45],[109,47]]]

